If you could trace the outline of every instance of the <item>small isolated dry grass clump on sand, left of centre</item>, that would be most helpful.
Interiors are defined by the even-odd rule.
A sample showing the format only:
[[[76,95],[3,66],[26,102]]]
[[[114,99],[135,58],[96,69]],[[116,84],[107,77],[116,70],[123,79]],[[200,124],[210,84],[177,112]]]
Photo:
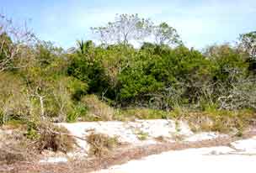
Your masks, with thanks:
[[[89,134],[87,141],[90,144],[89,155],[98,157],[109,155],[120,143],[116,137],[109,137],[107,134]]]

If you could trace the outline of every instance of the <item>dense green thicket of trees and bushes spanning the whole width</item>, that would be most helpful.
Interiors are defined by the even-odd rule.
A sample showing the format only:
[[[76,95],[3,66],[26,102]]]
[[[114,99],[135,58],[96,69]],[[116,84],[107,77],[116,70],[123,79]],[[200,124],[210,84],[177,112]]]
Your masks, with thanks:
[[[168,24],[156,26],[137,15],[120,19],[94,30],[120,34],[125,30],[115,27],[129,24],[133,33],[123,39],[117,35],[119,41],[111,44],[80,40],[72,51],[44,41],[17,47],[0,28],[0,123],[12,118],[92,120],[87,118],[90,103],[98,101],[88,94],[120,108],[256,109],[255,32],[242,34],[237,45],[199,51],[185,47]],[[157,41],[140,48],[128,42],[150,34]]]

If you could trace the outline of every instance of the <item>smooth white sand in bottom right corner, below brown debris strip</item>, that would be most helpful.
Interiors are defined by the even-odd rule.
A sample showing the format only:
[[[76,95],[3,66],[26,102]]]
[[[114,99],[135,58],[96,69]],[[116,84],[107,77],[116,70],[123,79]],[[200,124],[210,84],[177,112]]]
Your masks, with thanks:
[[[255,172],[256,137],[233,142],[231,147],[219,146],[184,149],[150,155],[141,160],[131,160],[94,173],[141,172]]]

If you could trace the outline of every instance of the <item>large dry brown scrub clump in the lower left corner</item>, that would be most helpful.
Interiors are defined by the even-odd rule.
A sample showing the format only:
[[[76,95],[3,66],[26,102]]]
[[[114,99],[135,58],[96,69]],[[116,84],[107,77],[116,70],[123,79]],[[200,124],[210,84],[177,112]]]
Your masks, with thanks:
[[[76,144],[66,128],[52,123],[28,122],[17,127],[0,128],[0,165],[35,161],[44,149],[67,153]]]

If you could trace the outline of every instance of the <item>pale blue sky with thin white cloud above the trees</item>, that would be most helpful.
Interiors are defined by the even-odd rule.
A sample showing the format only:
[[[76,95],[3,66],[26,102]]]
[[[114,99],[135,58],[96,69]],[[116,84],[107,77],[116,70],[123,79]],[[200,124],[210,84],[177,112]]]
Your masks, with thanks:
[[[93,39],[89,28],[116,13],[138,13],[178,30],[185,45],[234,43],[239,34],[256,30],[256,0],[0,0],[0,13],[14,21],[30,20],[40,39],[64,48],[76,39]]]

